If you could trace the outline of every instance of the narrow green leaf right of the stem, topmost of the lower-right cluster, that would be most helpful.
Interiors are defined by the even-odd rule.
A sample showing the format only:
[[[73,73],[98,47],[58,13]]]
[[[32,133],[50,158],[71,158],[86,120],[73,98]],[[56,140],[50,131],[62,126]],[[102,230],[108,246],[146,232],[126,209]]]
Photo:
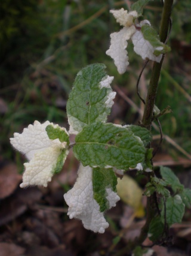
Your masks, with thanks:
[[[175,176],[175,174],[170,168],[161,166],[160,172],[161,172],[162,179],[164,179],[166,185],[171,186],[174,192],[183,191],[184,186],[181,185],[177,176]]]

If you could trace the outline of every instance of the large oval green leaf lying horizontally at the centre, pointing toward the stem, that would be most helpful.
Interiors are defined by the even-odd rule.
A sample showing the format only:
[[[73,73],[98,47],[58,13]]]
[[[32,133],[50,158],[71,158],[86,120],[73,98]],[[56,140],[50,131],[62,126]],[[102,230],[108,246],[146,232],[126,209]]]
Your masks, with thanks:
[[[76,135],[73,152],[84,166],[109,165],[127,170],[144,161],[145,149],[140,138],[128,129],[100,122],[84,127]]]

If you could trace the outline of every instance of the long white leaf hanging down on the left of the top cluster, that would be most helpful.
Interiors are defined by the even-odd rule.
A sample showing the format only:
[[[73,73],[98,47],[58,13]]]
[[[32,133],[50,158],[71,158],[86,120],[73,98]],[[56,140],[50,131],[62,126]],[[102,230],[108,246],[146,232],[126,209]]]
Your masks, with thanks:
[[[111,44],[106,54],[114,60],[119,74],[124,74],[129,65],[126,50],[128,44],[127,40],[131,38],[135,31],[135,26],[131,26],[130,28],[124,27],[121,31],[110,35]]]

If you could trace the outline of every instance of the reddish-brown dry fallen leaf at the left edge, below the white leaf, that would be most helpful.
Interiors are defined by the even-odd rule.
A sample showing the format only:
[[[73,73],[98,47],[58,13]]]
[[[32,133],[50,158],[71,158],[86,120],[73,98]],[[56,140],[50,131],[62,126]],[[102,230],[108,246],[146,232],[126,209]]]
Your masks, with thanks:
[[[21,181],[21,177],[15,164],[5,165],[0,170],[0,199],[13,194]]]

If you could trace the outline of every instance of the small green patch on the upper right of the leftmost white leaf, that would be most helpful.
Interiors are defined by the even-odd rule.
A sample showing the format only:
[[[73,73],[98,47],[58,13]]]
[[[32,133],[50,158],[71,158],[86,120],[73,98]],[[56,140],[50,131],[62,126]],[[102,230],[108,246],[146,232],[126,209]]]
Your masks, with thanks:
[[[48,125],[46,131],[50,140],[56,140],[58,138],[60,142],[66,141],[69,145],[69,135],[61,127],[54,128],[53,125]]]

